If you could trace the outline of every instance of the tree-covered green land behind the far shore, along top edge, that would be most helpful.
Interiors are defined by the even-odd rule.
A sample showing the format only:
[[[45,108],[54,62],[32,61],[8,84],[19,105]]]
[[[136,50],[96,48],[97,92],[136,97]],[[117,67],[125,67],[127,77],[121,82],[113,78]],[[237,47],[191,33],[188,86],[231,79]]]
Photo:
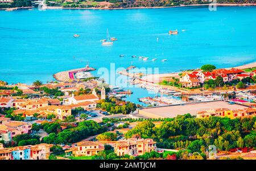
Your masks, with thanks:
[[[180,5],[208,4],[214,0],[46,0],[47,6],[64,8],[135,8],[135,7],[170,7]],[[221,4],[256,3],[256,0],[216,0]],[[1,3],[0,8],[32,6],[31,0],[13,0],[11,3]]]

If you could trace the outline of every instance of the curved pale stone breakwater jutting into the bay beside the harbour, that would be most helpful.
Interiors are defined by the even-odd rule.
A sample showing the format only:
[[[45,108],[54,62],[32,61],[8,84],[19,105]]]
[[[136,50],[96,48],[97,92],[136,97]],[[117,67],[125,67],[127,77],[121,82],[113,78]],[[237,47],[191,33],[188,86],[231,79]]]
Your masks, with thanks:
[[[71,81],[71,80],[76,80],[75,79],[75,73],[78,72],[89,72],[92,70],[96,70],[95,68],[90,68],[85,67],[85,68],[78,68],[78,69],[72,69],[72,70],[66,70],[63,72],[59,72],[56,74],[53,74],[53,77],[57,80],[57,81]]]

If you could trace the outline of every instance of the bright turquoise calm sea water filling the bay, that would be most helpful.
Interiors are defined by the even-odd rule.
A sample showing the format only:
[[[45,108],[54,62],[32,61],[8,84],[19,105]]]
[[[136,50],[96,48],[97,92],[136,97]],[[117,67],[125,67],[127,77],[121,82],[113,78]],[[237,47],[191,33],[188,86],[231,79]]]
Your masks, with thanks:
[[[56,72],[88,63],[97,69],[110,68],[113,62],[116,68],[133,64],[166,73],[256,59],[256,7],[16,10],[0,11],[0,18],[0,80],[10,84],[51,81]],[[110,37],[118,38],[112,47],[100,43],[107,28]],[[178,35],[168,35],[176,29]]]

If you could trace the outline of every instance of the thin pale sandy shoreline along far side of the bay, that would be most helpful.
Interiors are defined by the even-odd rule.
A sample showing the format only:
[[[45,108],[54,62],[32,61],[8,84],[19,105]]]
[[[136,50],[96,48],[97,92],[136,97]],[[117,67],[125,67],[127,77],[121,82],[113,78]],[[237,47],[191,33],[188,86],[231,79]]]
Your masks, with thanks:
[[[128,7],[128,8],[109,8],[109,7],[89,7],[89,8],[81,8],[81,7],[75,7],[75,8],[64,8],[64,7],[59,7],[59,6],[46,6],[42,10],[134,10],[134,9],[170,9],[170,8],[176,8],[176,7],[193,7],[193,6],[222,6],[222,7],[227,7],[227,6],[256,6],[256,3],[207,3],[207,4],[191,4],[191,5],[179,5],[179,6],[159,6],[159,7]],[[15,7],[15,8],[0,8],[0,10],[8,10],[12,9],[13,10],[19,10],[19,9],[32,9],[34,7]]]

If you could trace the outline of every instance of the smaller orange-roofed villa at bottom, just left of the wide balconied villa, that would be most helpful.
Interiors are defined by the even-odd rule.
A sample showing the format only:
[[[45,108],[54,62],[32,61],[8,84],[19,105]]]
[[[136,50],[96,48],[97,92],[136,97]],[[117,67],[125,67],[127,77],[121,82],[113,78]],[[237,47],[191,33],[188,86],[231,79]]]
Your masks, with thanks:
[[[104,151],[104,145],[97,141],[82,141],[72,150],[74,156],[94,156],[100,151]]]

